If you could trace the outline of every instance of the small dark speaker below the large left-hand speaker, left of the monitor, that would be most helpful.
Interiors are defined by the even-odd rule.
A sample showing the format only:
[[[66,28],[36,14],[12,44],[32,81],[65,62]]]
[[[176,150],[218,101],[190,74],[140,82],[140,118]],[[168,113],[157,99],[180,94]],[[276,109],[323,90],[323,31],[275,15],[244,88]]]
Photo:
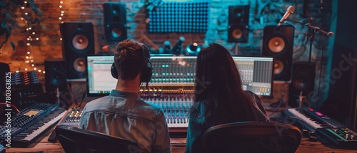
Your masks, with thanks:
[[[57,88],[59,88],[59,91],[66,90],[66,61],[62,59],[46,59],[44,65],[46,70],[46,92],[56,91]]]

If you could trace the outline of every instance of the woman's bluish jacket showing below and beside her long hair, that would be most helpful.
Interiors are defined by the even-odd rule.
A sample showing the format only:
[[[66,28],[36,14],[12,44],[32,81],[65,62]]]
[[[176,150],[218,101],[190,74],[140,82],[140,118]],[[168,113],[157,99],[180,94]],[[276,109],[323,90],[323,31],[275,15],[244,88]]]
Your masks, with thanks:
[[[251,91],[246,91],[253,99],[253,112],[256,115],[256,121],[268,121],[268,115],[261,105],[261,99]],[[205,105],[203,102],[196,102],[191,106],[189,114],[187,139],[186,139],[186,153],[189,152],[203,152],[202,136],[209,127],[214,126],[213,123],[206,122],[205,115],[203,115]],[[219,121],[218,121],[219,122]],[[218,124],[224,124],[221,122]]]

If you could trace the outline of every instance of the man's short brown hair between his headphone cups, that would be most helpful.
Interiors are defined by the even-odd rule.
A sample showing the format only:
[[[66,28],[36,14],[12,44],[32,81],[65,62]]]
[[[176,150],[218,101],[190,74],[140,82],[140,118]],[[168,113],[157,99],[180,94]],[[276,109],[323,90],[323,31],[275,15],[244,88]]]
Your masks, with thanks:
[[[149,54],[149,48],[143,43],[127,39],[118,43],[114,50],[114,65],[118,78],[122,80],[134,80],[147,66],[149,55],[146,54]]]

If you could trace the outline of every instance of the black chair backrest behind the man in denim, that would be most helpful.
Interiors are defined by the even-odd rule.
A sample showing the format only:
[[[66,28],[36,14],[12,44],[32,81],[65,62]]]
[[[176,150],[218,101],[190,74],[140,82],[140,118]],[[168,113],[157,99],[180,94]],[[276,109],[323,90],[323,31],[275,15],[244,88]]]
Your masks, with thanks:
[[[67,153],[147,153],[137,142],[76,127],[59,125],[56,134]]]

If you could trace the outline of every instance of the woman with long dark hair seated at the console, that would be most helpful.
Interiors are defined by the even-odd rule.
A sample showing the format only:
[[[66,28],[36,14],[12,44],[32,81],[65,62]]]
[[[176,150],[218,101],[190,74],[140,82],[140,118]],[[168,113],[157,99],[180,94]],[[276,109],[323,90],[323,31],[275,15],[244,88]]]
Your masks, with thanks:
[[[186,152],[203,152],[203,133],[214,125],[268,121],[261,99],[250,91],[243,91],[231,54],[217,43],[211,43],[198,53],[194,95]]]

